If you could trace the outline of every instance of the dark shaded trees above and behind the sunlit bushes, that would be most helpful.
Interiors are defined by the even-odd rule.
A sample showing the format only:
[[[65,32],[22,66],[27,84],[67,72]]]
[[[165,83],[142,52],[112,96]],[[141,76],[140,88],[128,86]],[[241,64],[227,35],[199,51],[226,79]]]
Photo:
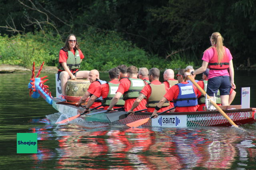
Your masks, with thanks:
[[[50,33],[62,41],[90,27],[115,31],[150,55],[175,53],[201,63],[209,36],[218,31],[235,66],[256,63],[255,0],[0,0],[1,34]],[[47,36],[46,36],[47,37]]]

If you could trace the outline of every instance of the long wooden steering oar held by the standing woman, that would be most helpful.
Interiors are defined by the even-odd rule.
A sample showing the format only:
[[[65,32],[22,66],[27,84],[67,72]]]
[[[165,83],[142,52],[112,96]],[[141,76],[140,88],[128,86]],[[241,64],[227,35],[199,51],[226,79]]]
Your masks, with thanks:
[[[204,95],[204,97],[206,96],[206,92],[195,82],[195,80],[193,80],[191,78],[191,76],[187,76],[188,79],[196,86],[196,88],[198,88],[198,90]],[[210,97],[207,95],[207,98],[210,99]],[[216,104],[214,103],[214,101],[210,100],[211,104],[220,112],[220,114],[222,114],[223,117],[226,118],[226,120],[233,125],[234,127],[238,127],[238,125],[236,125],[234,123],[234,121],[232,121],[228,115]]]

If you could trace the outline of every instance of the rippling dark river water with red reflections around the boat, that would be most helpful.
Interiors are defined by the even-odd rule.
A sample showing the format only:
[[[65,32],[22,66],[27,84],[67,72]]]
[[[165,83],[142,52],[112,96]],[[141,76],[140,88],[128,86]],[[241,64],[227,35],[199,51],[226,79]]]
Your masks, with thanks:
[[[235,73],[236,99],[251,87],[255,72]],[[54,74],[48,85],[55,96]],[[41,97],[29,97],[30,73],[0,74],[1,169],[256,169],[256,125],[200,128],[128,128],[86,123],[56,125],[60,113]],[[101,74],[108,80],[107,73]],[[197,78],[200,79],[200,78]],[[17,154],[17,133],[37,133],[38,153]]]

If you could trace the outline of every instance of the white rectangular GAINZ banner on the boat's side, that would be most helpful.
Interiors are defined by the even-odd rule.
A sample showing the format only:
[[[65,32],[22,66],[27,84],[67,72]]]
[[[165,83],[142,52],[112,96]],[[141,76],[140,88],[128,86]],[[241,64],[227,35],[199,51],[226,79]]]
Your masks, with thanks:
[[[152,126],[187,127],[187,115],[159,115],[152,119]]]

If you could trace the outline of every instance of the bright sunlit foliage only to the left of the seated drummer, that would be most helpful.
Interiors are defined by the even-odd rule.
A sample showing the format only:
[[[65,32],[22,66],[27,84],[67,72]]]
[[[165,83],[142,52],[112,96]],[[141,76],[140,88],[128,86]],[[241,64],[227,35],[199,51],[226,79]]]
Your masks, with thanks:
[[[43,38],[41,33],[33,35],[16,35],[11,38],[0,36],[1,59],[0,64],[17,64],[30,67],[36,61],[36,65],[44,61],[50,65],[56,59],[56,47],[51,47],[52,41]],[[53,50],[53,51],[51,51]]]

